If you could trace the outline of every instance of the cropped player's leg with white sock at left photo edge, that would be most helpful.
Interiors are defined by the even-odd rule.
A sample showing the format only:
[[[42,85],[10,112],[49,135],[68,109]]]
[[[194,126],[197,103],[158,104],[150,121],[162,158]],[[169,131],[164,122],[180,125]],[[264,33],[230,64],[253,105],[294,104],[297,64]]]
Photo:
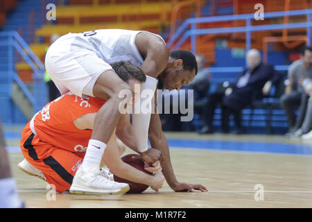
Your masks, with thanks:
[[[0,121],[0,208],[23,207],[24,203],[17,195],[17,185],[12,178],[6,142]]]

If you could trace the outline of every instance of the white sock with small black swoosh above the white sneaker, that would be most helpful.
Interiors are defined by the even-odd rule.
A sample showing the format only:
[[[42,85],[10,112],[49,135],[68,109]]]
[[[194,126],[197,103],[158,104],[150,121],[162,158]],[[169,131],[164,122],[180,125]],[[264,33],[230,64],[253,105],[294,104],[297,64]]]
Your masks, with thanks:
[[[83,158],[83,171],[89,171],[92,167],[94,167],[94,164],[98,164],[98,169],[100,169],[105,148],[106,144],[103,142],[96,139],[89,140],[87,151],[85,153],[85,157]]]

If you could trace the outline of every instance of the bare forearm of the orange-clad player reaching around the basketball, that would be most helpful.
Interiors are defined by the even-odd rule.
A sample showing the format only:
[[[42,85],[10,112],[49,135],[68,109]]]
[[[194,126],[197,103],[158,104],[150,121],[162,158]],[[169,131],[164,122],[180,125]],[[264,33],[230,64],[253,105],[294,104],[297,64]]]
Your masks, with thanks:
[[[162,188],[164,177],[160,172],[162,170],[161,167],[159,166],[159,170],[154,176],[135,169],[135,167],[132,167],[121,160],[118,148],[119,145],[120,144],[117,143],[116,138],[112,136],[104,151],[103,160],[111,173],[132,182],[148,185],[156,190]]]

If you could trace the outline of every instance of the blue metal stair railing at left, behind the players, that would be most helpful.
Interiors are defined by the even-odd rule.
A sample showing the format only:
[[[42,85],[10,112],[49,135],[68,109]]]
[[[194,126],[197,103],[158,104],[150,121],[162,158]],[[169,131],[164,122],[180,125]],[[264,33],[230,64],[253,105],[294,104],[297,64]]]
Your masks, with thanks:
[[[1,79],[6,79],[6,83],[9,85],[12,85],[13,82],[17,83],[33,105],[33,111],[39,111],[46,103],[44,93],[45,84],[43,80],[44,65],[16,31],[0,32],[0,46],[6,46],[8,49],[7,55],[1,55],[8,57],[7,70],[1,71]],[[31,69],[33,69],[33,94],[28,90],[15,71],[14,57],[17,56],[15,53],[18,53],[24,58]],[[10,93],[12,93],[11,86],[9,87],[8,96],[10,96]]]

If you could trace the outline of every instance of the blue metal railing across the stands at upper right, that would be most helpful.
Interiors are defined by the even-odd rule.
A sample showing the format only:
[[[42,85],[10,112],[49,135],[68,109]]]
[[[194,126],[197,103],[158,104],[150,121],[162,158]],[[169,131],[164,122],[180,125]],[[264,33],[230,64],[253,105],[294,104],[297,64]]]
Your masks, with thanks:
[[[297,22],[291,24],[269,24],[269,25],[254,25],[252,26],[251,21],[254,19],[254,14],[243,14],[243,15],[222,15],[214,17],[200,17],[186,19],[183,24],[177,28],[173,37],[167,42],[168,48],[173,50],[178,49],[182,44],[190,37],[191,38],[191,51],[196,53],[196,35],[207,35],[207,34],[218,34],[218,33],[245,33],[246,35],[246,46],[245,49],[248,51],[251,47],[251,33],[257,31],[269,31],[269,30],[280,30],[290,28],[306,28],[306,36],[308,46],[311,45],[311,14],[312,9],[306,10],[291,10],[283,12],[265,12],[264,19],[273,17],[284,17],[284,16],[298,16],[306,15],[306,22]],[[239,27],[227,27],[227,28],[202,28],[196,29],[196,24],[209,23],[209,22],[225,22],[225,21],[236,21],[245,20],[245,26]],[[288,66],[279,65],[276,67],[279,70],[286,70]],[[207,68],[211,72],[226,72],[226,71],[241,71],[243,67],[215,67]]]

